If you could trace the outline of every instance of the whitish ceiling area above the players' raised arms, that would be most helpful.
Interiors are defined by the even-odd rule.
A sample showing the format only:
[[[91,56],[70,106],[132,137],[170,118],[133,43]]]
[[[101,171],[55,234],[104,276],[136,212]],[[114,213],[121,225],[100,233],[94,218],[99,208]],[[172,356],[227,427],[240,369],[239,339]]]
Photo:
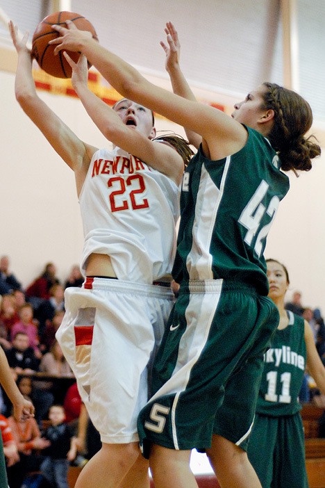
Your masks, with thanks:
[[[325,0],[70,0],[70,10],[94,24],[99,41],[144,74],[166,79],[160,47],[165,22],[181,39],[181,64],[194,88],[215,101],[237,99],[262,81],[283,84],[281,3],[297,5],[298,86],[325,122]],[[33,33],[51,0],[0,0],[0,8]],[[0,24],[0,41],[9,42]]]

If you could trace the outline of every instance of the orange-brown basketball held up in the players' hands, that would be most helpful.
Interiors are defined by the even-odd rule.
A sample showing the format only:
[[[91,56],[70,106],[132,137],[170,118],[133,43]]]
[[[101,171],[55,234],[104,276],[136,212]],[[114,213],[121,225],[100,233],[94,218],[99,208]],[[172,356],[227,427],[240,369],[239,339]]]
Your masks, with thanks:
[[[63,56],[63,51],[54,56],[53,51],[56,45],[49,44],[49,41],[60,37],[58,31],[52,29],[53,24],[66,27],[65,21],[71,20],[81,31],[90,31],[92,38],[98,40],[94,26],[83,15],[74,12],[56,12],[45,17],[35,29],[32,40],[32,55],[37,60],[42,70],[56,76],[56,78],[71,78],[72,68]],[[67,51],[70,58],[77,63],[80,53]],[[88,63],[88,69],[91,64]]]

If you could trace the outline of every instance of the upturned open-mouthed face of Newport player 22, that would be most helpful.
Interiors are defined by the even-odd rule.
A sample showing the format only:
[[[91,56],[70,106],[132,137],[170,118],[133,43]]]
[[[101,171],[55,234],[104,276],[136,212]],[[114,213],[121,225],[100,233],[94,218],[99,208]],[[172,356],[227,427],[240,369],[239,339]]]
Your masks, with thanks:
[[[150,139],[155,136],[156,131],[152,126],[152,113],[148,108],[135,104],[134,101],[128,99],[119,100],[113,108],[128,127]]]

